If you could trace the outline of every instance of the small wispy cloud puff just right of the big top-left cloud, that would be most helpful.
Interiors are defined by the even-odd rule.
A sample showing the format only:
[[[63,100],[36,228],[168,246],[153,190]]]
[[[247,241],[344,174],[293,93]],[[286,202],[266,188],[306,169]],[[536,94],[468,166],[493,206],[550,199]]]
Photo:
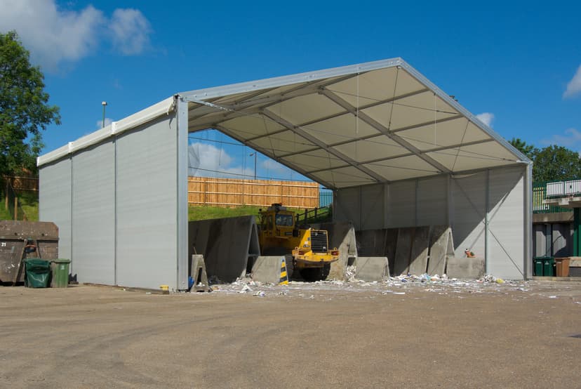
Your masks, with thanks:
[[[113,46],[124,55],[135,55],[149,46],[152,31],[149,21],[136,9],[118,8],[113,12],[109,29],[112,32]]]

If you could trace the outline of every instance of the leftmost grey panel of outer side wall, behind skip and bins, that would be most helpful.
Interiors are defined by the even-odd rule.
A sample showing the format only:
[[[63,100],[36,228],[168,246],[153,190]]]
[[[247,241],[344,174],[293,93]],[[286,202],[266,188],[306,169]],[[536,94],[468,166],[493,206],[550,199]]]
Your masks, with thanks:
[[[42,166],[39,177],[39,220],[57,225],[58,256],[71,259],[71,159]],[[70,271],[76,274],[74,262]]]

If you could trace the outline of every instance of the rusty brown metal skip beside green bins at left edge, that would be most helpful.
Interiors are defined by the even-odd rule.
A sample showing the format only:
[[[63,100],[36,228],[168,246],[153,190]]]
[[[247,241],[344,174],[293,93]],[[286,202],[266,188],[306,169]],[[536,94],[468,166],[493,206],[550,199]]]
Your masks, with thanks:
[[[58,227],[51,222],[0,220],[0,283],[24,282],[26,258],[58,258]]]

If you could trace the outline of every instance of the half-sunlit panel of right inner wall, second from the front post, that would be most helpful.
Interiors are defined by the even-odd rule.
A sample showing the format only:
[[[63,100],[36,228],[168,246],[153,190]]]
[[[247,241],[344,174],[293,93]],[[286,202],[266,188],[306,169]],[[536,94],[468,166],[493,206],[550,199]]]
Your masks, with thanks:
[[[451,180],[452,234],[455,255],[464,250],[484,256],[484,218],[486,216],[486,172]],[[522,225],[520,230],[522,231]]]

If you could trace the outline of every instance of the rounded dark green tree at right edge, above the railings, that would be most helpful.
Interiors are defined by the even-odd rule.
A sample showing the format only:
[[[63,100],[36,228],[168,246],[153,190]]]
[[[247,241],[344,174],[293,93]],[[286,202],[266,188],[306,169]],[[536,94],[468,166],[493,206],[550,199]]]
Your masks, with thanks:
[[[578,152],[562,146],[536,150],[533,159],[533,181],[547,182],[581,178],[581,159]]]

